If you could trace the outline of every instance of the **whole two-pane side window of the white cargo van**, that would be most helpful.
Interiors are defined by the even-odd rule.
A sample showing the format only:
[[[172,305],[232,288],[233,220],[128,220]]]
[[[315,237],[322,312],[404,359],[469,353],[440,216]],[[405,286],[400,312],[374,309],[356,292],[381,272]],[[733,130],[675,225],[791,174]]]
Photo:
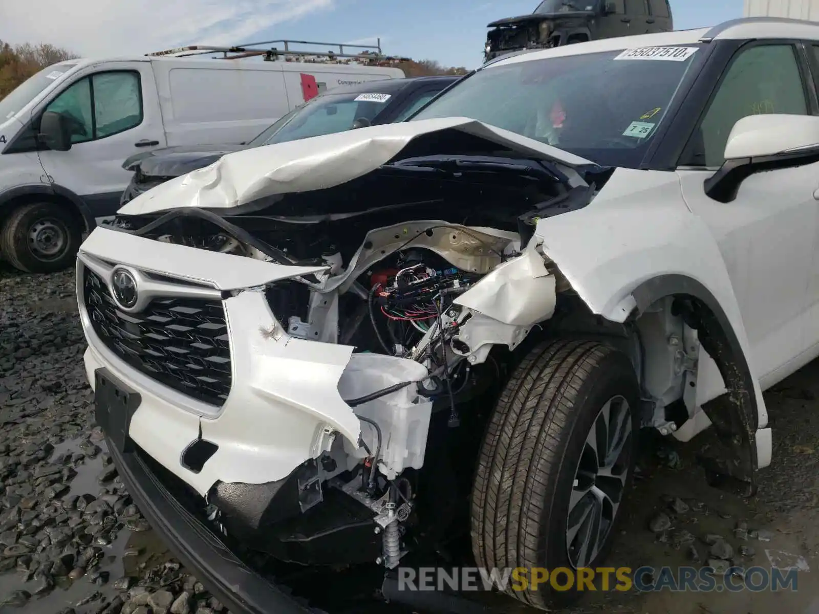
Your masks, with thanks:
[[[143,121],[139,74],[130,70],[92,74],[72,84],[46,111],[66,116],[72,143],[131,129]]]

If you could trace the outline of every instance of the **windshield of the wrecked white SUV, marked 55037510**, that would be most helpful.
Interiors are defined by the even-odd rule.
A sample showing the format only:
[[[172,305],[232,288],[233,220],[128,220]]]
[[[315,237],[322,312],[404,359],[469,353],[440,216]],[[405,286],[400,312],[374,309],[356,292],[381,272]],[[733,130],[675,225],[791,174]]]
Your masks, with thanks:
[[[411,120],[468,117],[600,165],[637,168],[698,51],[644,47],[489,66]]]

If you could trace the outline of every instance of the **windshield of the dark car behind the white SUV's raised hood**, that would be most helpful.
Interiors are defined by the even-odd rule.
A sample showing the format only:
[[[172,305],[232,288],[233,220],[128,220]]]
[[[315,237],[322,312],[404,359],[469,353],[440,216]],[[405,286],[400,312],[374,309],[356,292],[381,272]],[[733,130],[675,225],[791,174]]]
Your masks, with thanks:
[[[322,94],[284,115],[254,138],[250,145],[260,147],[344,132],[353,128],[355,120],[365,120],[372,124],[390,98],[390,94],[381,93]]]

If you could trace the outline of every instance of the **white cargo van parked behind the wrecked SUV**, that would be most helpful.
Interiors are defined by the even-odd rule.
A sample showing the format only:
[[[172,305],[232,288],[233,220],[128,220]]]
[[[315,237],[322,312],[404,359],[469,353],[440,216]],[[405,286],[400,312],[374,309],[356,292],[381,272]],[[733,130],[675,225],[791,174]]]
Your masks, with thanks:
[[[247,55],[247,54],[246,54]],[[115,213],[125,158],[249,141],[317,93],[404,77],[384,65],[136,56],[49,66],[0,100],[0,250],[16,269],[64,269]]]

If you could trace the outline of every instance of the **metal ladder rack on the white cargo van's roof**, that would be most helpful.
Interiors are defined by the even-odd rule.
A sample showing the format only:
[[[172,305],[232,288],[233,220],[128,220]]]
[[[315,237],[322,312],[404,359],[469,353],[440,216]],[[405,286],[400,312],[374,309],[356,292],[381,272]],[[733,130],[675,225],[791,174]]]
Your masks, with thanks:
[[[276,47],[270,47],[276,45]],[[279,48],[282,45],[283,48]],[[291,45],[320,45],[321,47],[337,47],[328,51],[314,51],[292,49]],[[260,48],[262,47],[262,48]],[[351,49],[360,49],[357,53],[350,53]],[[186,47],[174,47],[165,51],[146,53],[146,56],[162,57],[189,57],[202,56],[212,53],[221,53],[225,60],[239,60],[243,57],[263,56],[266,61],[308,61],[326,63],[351,63],[351,61],[364,62],[369,65],[394,64],[402,61],[409,61],[408,57],[385,56],[381,51],[381,38],[378,38],[376,45],[352,45],[347,43],[316,43],[305,40],[269,40],[256,43],[245,43],[232,47],[214,47],[210,45],[188,45]],[[324,58],[324,59],[319,59]]]

